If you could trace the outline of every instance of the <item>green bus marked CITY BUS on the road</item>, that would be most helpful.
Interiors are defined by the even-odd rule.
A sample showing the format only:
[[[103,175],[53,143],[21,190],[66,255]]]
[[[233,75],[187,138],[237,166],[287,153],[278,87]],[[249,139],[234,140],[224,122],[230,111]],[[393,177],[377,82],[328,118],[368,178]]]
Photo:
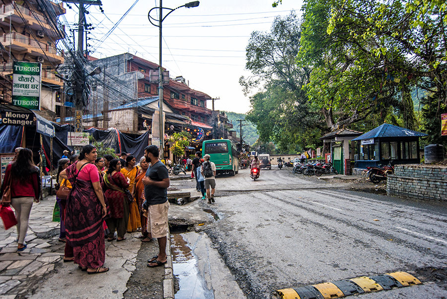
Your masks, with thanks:
[[[239,172],[239,153],[228,139],[205,140],[202,145],[202,157],[210,155],[210,161],[216,164],[216,174],[234,176]]]

